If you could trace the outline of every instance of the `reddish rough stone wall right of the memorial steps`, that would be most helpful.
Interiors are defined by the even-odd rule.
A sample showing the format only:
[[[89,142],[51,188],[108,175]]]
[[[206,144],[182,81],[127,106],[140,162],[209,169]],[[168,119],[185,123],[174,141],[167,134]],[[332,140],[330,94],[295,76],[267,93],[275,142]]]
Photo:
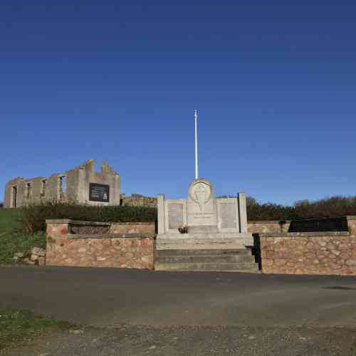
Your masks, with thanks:
[[[265,234],[260,246],[263,273],[356,275],[356,237],[347,232]]]

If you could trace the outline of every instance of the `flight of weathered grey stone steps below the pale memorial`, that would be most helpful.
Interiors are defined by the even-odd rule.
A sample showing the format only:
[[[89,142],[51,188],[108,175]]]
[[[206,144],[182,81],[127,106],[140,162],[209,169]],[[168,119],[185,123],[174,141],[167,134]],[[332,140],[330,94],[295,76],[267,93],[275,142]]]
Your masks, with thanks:
[[[258,272],[258,263],[248,248],[156,251],[157,271]]]

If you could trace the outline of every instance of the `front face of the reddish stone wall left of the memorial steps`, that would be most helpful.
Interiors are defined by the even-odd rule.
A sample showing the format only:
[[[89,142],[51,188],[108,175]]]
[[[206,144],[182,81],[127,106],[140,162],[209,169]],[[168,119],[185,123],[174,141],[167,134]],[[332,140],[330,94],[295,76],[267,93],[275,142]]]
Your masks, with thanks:
[[[70,224],[47,224],[46,265],[154,268],[153,237],[90,237],[68,234]],[[152,234],[151,234],[152,235]]]

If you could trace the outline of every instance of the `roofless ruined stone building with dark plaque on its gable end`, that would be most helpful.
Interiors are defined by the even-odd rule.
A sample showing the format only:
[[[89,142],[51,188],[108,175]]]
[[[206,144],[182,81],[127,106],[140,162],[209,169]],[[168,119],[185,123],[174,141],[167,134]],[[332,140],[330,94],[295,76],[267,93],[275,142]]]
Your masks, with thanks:
[[[90,159],[49,178],[12,179],[5,187],[4,207],[17,208],[41,201],[120,205],[120,181],[120,175],[106,162],[100,172],[95,172],[95,161]]]

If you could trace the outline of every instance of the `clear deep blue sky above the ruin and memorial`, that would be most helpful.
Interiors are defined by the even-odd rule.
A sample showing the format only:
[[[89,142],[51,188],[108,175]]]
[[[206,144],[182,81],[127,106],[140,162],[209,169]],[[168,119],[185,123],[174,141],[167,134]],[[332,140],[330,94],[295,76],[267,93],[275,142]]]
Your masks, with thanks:
[[[91,158],[126,194],[186,197],[194,108],[217,194],[356,195],[352,4],[1,0],[0,199]]]

